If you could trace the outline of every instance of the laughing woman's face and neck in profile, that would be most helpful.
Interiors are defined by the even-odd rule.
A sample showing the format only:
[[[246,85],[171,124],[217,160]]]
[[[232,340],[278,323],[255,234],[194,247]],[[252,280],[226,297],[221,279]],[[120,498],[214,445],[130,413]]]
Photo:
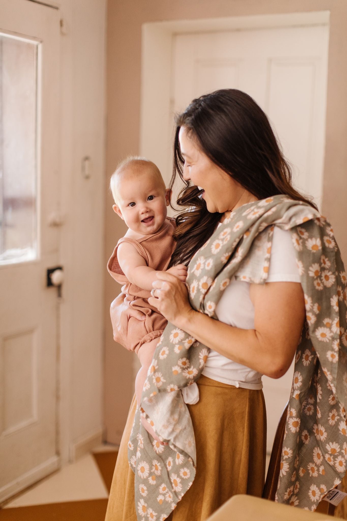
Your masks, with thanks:
[[[250,192],[211,161],[197,141],[188,135],[186,127],[179,129],[178,139],[184,157],[183,177],[204,190],[202,198],[210,213],[223,214],[256,201]]]

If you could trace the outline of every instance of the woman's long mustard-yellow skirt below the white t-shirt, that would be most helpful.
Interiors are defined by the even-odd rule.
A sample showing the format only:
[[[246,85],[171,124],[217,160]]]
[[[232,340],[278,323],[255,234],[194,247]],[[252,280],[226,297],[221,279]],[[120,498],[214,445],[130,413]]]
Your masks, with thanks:
[[[197,384],[200,400],[188,405],[197,448],[196,476],[168,521],[203,521],[232,495],[261,497],[264,487],[263,392],[236,388],[205,376],[201,376]],[[135,409],[134,396],[114,469],[105,521],[137,520],[135,477],[127,460]]]

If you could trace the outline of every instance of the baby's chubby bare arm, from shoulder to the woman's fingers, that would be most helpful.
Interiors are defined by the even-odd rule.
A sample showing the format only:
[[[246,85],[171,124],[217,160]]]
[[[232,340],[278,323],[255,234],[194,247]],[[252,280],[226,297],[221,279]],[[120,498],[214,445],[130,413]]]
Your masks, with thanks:
[[[118,246],[117,259],[125,277],[132,284],[144,290],[152,289],[152,282],[157,280],[157,271],[146,265],[145,259],[132,244],[122,242]]]

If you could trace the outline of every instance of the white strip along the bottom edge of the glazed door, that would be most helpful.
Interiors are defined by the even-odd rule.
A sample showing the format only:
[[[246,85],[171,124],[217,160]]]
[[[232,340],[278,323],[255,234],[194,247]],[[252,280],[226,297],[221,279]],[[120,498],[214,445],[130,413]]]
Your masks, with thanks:
[[[37,465],[32,468],[19,478],[16,478],[14,481],[7,483],[4,487],[0,489],[0,502],[5,501],[8,498],[11,498],[13,495],[21,492],[25,488],[33,485],[42,478],[48,476],[48,474],[52,474],[55,470],[58,470],[60,467],[60,458],[58,456],[52,456],[49,460]]]

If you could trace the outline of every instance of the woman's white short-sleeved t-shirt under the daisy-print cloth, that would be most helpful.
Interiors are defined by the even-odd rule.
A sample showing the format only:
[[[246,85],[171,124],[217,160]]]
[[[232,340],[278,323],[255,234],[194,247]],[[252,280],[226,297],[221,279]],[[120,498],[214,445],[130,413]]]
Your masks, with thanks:
[[[266,282],[300,282],[291,233],[275,226]],[[254,306],[250,284],[232,279],[225,289],[215,314],[221,322],[241,329],[254,329]],[[242,345],[240,345],[242,349]],[[202,374],[236,387],[262,389],[262,375],[213,351],[209,352]]]

